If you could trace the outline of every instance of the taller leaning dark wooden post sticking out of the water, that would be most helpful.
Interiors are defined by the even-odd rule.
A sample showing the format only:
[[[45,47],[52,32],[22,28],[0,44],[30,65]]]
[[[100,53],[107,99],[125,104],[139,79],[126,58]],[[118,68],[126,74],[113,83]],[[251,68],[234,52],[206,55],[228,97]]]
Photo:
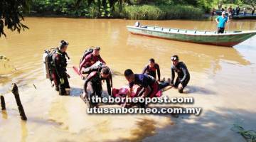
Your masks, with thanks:
[[[20,99],[19,94],[18,94],[18,87],[15,83],[12,84],[11,92],[14,94],[14,97],[16,99],[16,103],[17,103],[17,106],[18,106],[18,111],[20,113],[21,119],[26,121],[27,120],[26,114],[25,114],[25,111],[22,107],[21,99]]]

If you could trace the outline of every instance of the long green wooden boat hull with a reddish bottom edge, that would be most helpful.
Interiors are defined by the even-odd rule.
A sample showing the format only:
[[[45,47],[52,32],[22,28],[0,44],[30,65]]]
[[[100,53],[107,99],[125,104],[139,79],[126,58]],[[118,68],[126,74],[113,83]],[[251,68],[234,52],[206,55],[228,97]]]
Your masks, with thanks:
[[[245,32],[245,33],[223,33],[223,34],[203,34],[201,33],[185,33],[181,32],[169,32],[166,31],[166,29],[161,28],[161,31],[159,30],[152,30],[148,28],[138,28],[138,27],[132,27],[127,26],[127,29],[130,33],[136,34],[136,35],[146,35],[149,37],[154,38],[164,38],[169,40],[179,40],[179,41],[186,41],[190,43],[202,43],[202,44],[208,44],[208,45],[220,45],[220,46],[228,46],[232,47],[234,45],[237,45],[238,43],[241,43],[244,40],[247,40],[248,38],[252,37],[256,34],[256,32]]]

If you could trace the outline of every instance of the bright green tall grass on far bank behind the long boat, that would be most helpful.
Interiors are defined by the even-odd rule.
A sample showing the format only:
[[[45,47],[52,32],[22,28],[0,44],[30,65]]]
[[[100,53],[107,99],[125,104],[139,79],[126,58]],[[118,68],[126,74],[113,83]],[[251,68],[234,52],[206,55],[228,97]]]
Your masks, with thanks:
[[[119,18],[142,19],[142,20],[163,20],[163,19],[196,19],[201,18],[203,10],[193,6],[181,5],[124,5],[123,11],[115,11],[114,16]]]

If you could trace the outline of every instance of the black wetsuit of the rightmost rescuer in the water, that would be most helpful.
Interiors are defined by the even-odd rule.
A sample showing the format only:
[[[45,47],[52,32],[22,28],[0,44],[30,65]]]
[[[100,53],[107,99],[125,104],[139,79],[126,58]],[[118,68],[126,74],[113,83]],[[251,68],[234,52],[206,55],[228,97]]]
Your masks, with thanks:
[[[175,72],[178,74],[176,82],[174,83]],[[186,65],[183,62],[178,62],[178,65],[171,65],[171,84],[174,84],[174,87],[178,87],[178,84],[182,84],[183,88],[186,87],[190,80],[190,75]],[[183,89],[178,90],[183,92]]]

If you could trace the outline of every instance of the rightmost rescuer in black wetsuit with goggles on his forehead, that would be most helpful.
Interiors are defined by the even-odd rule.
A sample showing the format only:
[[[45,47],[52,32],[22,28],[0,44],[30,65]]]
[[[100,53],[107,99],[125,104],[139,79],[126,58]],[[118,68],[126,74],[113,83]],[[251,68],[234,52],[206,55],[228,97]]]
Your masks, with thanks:
[[[171,61],[171,84],[178,89],[178,92],[183,93],[183,89],[190,80],[188,68],[183,62],[178,60],[178,55],[172,56]],[[175,72],[178,77],[176,77],[176,82],[174,83]]]

